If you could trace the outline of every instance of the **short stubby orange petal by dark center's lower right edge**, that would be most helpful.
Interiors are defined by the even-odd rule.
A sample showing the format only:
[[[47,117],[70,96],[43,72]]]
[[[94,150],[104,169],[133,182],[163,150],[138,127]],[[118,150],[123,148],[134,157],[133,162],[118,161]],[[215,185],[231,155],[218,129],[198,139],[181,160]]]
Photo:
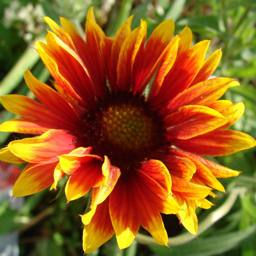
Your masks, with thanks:
[[[196,172],[195,164],[187,157],[167,155],[162,161],[171,175],[188,181]]]

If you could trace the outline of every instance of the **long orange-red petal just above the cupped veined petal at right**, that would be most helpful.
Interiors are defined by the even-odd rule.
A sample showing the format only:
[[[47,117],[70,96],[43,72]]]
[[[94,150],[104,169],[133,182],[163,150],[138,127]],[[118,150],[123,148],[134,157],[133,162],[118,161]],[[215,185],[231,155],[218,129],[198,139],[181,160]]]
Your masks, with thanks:
[[[219,99],[229,87],[238,86],[238,81],[231,78],[216,78],[200,82],[180,92],[166,107],[163,114],[177,111],[185,105],[204,105]],[[214,108],[215,109],[215,108]],[[218,111],[218,109],[216,109]]]

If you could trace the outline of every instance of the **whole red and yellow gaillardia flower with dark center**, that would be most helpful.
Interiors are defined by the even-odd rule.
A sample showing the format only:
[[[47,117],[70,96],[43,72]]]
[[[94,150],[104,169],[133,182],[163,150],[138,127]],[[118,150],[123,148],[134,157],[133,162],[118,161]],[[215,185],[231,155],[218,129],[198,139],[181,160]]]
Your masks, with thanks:
[[[208,40],[191,47],[185,27],[173,37],[174,22],[161,23],[146,42],[146,23],[131,30],[132,16],[106,37],[86,20],[86,41],[65,18],[60,28],[35,42],[54,78],[55,89],[29,70],[24,78],[38,101],[2,96],[4,107],[22,118],[4,122],[5,132],[34,134],[1,150],[6,162],[28,162],[14,196],[36,193],[68,176],[67,200],[92,188],[90,211],[82,215],[83,248],[97,249],[116,234],[120,249],[134,240],[140,225],[157,243],[167,245],[160,215],[176,214],[196,234],[195,208],[210,208],[205,197],[225,192],[216,177],[238,171],[202,158],[223,156],[255,146],[242,132],[227,130],[243,114],[243,103],[218,100],[230,78],[207,80],[221,58],[205,59]]]

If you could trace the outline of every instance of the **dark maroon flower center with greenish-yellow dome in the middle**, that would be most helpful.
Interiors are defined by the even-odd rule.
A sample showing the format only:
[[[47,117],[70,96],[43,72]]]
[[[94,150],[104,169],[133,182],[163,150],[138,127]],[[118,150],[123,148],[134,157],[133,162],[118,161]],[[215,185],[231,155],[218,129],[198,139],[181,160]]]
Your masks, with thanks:
[[[110,94],[97,105],[89,120],[88,140],[94,154],[108,156],[122,170],[158,159],[166,150],[162,118],[144,98],[123,92]]]

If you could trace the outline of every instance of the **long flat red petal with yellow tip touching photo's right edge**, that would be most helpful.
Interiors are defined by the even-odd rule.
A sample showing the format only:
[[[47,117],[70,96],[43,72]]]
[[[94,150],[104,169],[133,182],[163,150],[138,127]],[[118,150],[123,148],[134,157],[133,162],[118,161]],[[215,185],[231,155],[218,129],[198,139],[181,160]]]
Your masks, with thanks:
[[[254,147],[250,135],[233,130],[214,130],[188,140],[175,140],[182,150],[205,156],[224,156]]]

